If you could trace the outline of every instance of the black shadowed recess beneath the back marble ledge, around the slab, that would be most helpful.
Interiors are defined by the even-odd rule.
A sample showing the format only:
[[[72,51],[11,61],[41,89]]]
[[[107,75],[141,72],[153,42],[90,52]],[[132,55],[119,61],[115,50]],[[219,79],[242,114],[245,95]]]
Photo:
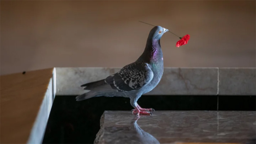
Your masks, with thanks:
[[[100,129],[100,117],[105,110],[132,110],[129,98],[94,97],[77,102],[75,97],[55,97],[43,143],[93,143]],[[212,111],[217,110],[217,100],[218,96],[142,96],[138,103],[156,111]],[[219,96],[219,110],[234,108],[255,111],[255,107],[255,96],[226,96],[226,99],[225,96]]]

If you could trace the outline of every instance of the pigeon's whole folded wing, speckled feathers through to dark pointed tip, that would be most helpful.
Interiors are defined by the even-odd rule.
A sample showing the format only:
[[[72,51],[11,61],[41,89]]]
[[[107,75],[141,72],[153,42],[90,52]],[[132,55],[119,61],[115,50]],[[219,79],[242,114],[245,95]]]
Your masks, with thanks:
[[[106,79],[90,82],[85,90],[91,91],[134,91],[149,84],[154,74],[147,63],[131,63],[124,66],[118,73],[108,76]]]

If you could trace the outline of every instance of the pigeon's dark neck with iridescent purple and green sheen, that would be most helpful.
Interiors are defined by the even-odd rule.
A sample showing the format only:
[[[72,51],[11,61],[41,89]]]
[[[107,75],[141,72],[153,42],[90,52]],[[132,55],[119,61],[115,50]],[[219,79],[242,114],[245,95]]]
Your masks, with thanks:
[[[148,39],[145,50],[139,59],[151,63],[162,60],[162,56],[160,39]]]

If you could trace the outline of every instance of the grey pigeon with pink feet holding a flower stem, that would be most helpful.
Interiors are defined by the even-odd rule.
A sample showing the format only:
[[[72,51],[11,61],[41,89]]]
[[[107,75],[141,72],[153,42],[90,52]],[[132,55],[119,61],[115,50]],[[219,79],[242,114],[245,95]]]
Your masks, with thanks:
[[[154,109],[142,108],[137,101],[143,94],[153,90],[162,78],[164,61],[160,39],[167,31],[169,30],[161,26],[153,27],[149,32],[144,52],[135,62],[124,66],[106,79],[81,85],[84,90],[90,91],[76,96],[76,101],[99,96],[129,97],[130,105],[134,108],[133,114],[151,115]]]

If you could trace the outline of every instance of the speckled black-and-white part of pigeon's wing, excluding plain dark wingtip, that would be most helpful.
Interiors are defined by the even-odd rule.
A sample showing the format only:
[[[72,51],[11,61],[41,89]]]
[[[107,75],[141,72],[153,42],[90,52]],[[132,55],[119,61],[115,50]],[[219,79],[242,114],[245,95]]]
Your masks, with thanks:
[[[153,76],[149,64],[134,62],[124,66],[118,73],[108,76],[105,82],[117,91],[134,91],[149,84]]]

